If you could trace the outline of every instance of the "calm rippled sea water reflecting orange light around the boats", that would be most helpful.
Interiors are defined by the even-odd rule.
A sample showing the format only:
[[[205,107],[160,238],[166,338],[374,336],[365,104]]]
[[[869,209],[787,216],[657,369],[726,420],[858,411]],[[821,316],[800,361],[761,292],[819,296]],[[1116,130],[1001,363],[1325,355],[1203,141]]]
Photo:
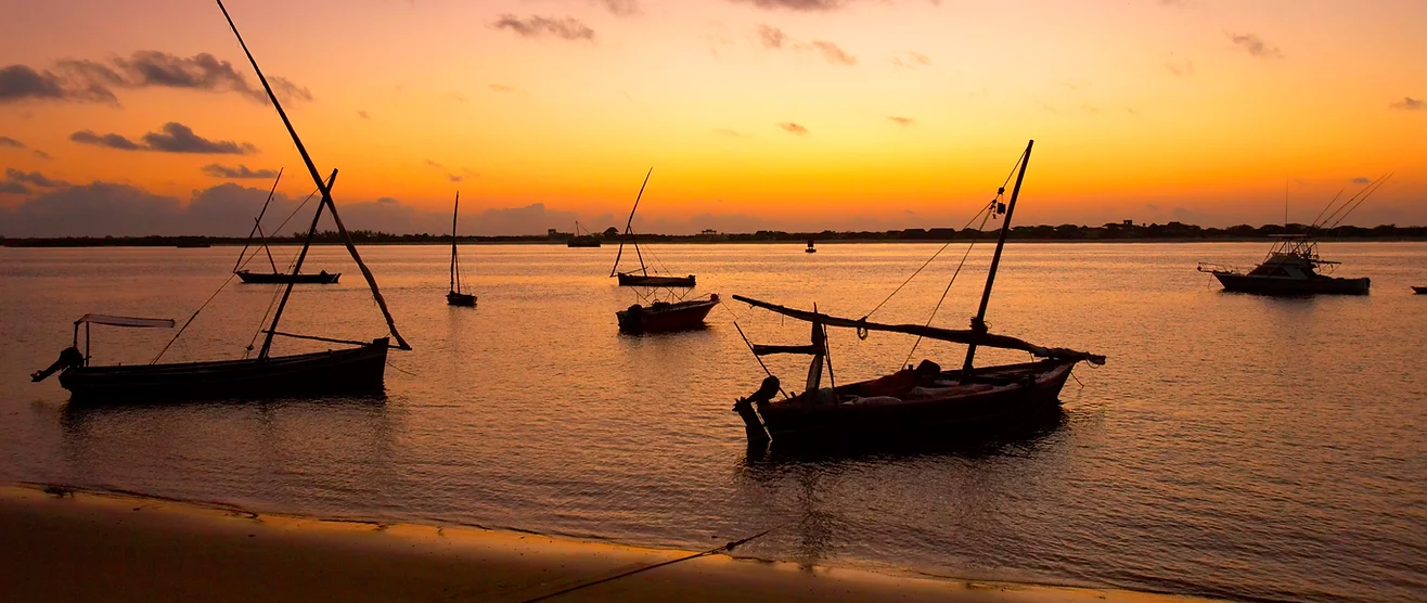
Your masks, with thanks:
[[[86,312],[174,317],[218,290],[237,249],[0,249],[0,479],[116,487],[260,510],[518,527],[943,576],[1244,600],[1427,599],[1427,244],[1330,244],[1367,297],[1220,293],[1199,260],[1261,244],[1012,244],[989,322],[1082,364],[1057,424],[969,446],[749,452],[731,412],[759,343],[806,326],[732,293],[862,316],[938,246],[655,246],[726,302],[706,330],[621,336],[635,293],[615,250],[464,247],[477,309],[445,306],[448,249],[367,247],[402,334],[385,400],[68,409],[29,383]],[[960,249],[875,319],[925,322]],[[975,312],[979,246],[936,324]],[[281,250],[290,254],[291,250]],[[385,333],[355,266],[294,294],[283,330]],[[230,283],[166,360],[238,357],[274,289]],[[96,362],[153,359],[171,332],[96,327]],[[281,352],[313,343],[278,342]],[[896,369],[912,340],[833,332],[841,382]],[[955,366],[922,343],[913,362]],[[1019,360],[986,352],[985,362]],[[773,357],[798,383],[805,359]]]

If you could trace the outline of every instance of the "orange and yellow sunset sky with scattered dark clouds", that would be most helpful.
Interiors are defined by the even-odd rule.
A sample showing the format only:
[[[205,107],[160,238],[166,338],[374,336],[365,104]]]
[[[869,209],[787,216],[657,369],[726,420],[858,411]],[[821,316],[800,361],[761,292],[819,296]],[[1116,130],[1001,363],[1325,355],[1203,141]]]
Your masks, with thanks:
[[[641,230],[960,227],[1027,139],[1022,224],[1276,223],[1286,183],[1309,221],[1384,173],[1349,221],[1427,223],[1421,0],[228,10],[358,227],[457,190],[472,233],[622,226],[651,166]],[[313,190],[215,4],[4,13],[0,234],[241,236],[270,171]]]

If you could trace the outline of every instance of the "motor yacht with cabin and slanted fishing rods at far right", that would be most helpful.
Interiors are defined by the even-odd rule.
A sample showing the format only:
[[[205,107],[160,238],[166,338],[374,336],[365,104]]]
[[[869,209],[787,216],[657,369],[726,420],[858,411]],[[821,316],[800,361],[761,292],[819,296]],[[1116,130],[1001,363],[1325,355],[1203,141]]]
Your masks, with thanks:
[[[1257,293],[1264,296],[1311,296],[1320,293],[1364,296],[1371,287],[1371,281],[1367,277],[1343,279],[1327,274],[1339,263],[1319,257],[1319,237],[1341,224],[1390,176],[1383,176],[1368,183],[1363,190],[1349,197],[1330,213],[1329,210],[1337,203],[1337,197],[1333,197],[1303,233],[1274,234],[1273,239],[1277,241],[1269,250],[1269,254],[1259,266],[1250,270],[1206,261],[1200,261],[1197,270],[1213,274],[1224,286],[1224,290],[1232,293]],[[1287,214],[1287,211],[1284,213]],[[1287,224],[1284,224],[1284,230],[1289,230]]]

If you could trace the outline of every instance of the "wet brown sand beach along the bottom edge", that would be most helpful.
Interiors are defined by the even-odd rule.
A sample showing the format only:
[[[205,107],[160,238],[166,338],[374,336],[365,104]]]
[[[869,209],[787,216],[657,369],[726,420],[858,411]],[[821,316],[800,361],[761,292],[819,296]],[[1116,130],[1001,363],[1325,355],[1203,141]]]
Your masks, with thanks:
[[[1202,600],[49,490],[0,486],[3,602]]]

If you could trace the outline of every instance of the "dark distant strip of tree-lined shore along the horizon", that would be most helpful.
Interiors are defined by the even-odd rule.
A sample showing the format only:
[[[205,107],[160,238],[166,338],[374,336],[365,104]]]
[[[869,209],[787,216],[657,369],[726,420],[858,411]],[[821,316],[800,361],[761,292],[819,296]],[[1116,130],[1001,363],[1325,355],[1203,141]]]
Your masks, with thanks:
[[[1160,241],[1160,243],[1194,243],[1194,241],[1250,241],[1269,239],[1276,234],[1301,234],[1307,231],[1306,224],[1264,224],[1253,227],[1249,224],[1230,226],[1227,229],[1204,229],[1194,224],[1170,221],[1167,224],[1130,224],[1110,223],[1104,226],[1015,226],[1010,231],[1012,240],[1020,241]],[[450,234],[391,234],[375,230],[354,230],[352,240],[361,244],[450,244]],[[636,234],[642,243],[935,243],[948,240],[987,240],[996,239],[999,230],[976,229],[905,229],[883,231],[832,231],[819,233],[785,233],[781,230],[759,230],[756,233],[718,233],[705,230],[701,234]],[[1340,226],[1327,231],[1317,231],[1316,236],[1327,240],[1427,240],[1427,226],[1394,226],[1383,224],[1371,229],[1359,226]],[[527,244],[564,244],[574,234],[551,230],[548,234],[521,236],[462,236],[461,243],[527,243]],[[618,243],[619,236],[609,231],[591,234],[606,243]],[[303,244],[305,234],[293,233],[283,237],[268,237],[270,244]],[[0,237],[6,247],[204,247],[204,246],[241,246],[247,243],[244,237],[204,237],[204,236],[146,236],[146,237]],[[253,243],[257,243],[255,240]],[[314,244],[341,244],[337,231],[321,231],[313,240]]]

